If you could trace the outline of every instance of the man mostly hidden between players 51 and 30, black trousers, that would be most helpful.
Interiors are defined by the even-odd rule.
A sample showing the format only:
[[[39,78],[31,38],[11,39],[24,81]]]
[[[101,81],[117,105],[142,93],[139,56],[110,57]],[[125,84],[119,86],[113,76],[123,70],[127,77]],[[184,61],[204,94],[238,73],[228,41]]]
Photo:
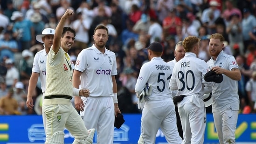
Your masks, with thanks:
[[[185,56],[185,49],[182,46],[182,42],[183,41],[179,41],[176,46],[175,46],[175,50],[174,50],[174,59],[170,62],[167,62],[167,64],[170,67],[174,67],[175,63],[179,62],[180,59],[182,59]],[[172,96],[176,96],[177,94],[177,90],[172,90]],[[181,126],[181,122],[180,122],[180,115],[178,112],[178,107],[175,104],[175,112],[176,112],[176,118],[177,118],[177,128],[180,134],[180,137],[183,139],[183,132],[182,132],[182,126]]]

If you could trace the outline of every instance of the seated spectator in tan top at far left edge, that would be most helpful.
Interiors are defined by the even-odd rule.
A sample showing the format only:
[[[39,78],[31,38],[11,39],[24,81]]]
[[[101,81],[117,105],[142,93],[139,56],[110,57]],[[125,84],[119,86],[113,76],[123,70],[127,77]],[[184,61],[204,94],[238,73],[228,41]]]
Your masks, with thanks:
[[[9,89],[6,96],[0,98],[0,115],[20,115],[18,102],[13,98],[14,89]]]

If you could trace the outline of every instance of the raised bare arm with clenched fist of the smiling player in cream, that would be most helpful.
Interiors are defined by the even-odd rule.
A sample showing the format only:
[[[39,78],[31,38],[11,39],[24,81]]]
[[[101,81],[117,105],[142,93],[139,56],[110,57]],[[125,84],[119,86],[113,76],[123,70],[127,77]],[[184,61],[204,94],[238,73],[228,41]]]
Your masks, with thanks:
[[[61,19],[55,29],[53,45],[52,45],[52,50],[54,51],[55,54],[57,54],[57,52],[59,51],[60,46],[61,46],[61,37],[62,37],[64,23],[69,18],[69,16],[71,16],[73,14],[74,14],[73,10],[67,9],[65,14],[61,17]]]

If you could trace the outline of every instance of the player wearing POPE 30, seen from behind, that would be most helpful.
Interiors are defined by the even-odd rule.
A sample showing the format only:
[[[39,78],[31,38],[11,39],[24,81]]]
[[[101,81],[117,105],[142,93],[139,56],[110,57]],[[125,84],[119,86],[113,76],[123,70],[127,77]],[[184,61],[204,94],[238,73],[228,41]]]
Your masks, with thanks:
[[[178,89],[176,96],[181,97],[178,110],[184,138],[182,144],[203,144],[206,127],[203,94],[204,87],[211,87],[211,83],[204,80],[207,64],[197,58],[200,50],[199,38],[188,36],[182,45],[186,54],[173,68],[170,89]]]

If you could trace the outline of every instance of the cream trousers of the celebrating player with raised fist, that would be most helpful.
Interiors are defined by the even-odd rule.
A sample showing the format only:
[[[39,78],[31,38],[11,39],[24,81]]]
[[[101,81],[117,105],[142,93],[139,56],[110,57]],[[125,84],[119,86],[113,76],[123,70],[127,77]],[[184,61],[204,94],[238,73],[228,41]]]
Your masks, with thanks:
[[[47,102],[46,102],[47,101]],[[59,101],[69,101],[69,104],[49,104],[49,99],[43,101],[42,110],[46,117],[46,141],[49,143],[50,138],[56,132],[63,132],[66,127],[72,136],[75,137],[76,142],[84,141],[88,137],[88,132],[83,124],[82,118],[70,103],[68,99],[61,99]]]

